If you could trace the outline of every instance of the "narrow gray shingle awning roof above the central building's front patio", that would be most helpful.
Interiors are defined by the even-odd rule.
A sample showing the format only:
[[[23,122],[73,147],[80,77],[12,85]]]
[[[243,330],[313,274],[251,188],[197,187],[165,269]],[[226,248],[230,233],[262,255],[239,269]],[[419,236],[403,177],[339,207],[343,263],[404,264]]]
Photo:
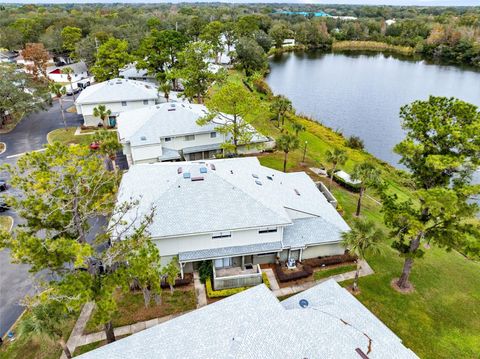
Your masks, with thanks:
[[[197,260],[224,258],[241,256],[248,254],[278,252],[282,250],[282,242],[257,243],[245,246],[211,248],[198,251],[180,252],[178,259],[180,262],[190,262]]]

